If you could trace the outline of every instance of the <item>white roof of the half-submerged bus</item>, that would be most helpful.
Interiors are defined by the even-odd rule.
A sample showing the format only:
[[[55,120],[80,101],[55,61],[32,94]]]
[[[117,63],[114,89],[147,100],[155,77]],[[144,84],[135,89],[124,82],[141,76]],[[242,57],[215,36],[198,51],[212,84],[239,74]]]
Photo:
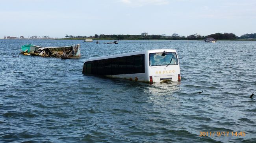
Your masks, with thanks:
[[[137,52],[127,52],[127,53],[122,53],[122,54],[89,58],[89,59],[85,60],[85,62],[108,59],[108,58],[117,58],[117,57],[122,57],[122,56],[132,56],[132,55],[137,55],[137,54],[149,54],[149,53],[155,53],[155,52],[176,52],[176,50],[174,50],[174,49],[155,49],[155,50],[145,50],[145,51],[137,51]]]

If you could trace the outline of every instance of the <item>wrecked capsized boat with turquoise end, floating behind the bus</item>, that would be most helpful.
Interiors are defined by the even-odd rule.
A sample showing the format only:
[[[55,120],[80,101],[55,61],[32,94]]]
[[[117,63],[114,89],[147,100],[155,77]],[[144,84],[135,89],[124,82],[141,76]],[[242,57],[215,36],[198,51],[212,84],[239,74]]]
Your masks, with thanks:
[[[56,58],[80,58],[80,44],[64,47],[41,47],[32,44],[21,46],[21,54]]]

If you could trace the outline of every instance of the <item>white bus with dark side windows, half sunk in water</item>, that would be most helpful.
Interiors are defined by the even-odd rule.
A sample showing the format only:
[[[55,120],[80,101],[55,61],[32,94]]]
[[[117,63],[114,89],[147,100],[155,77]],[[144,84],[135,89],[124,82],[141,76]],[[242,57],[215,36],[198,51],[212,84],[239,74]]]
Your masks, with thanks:
[[[180,81],[176,50],[157,49],[85,60],[83,74],[124,78],[146,83]]]

